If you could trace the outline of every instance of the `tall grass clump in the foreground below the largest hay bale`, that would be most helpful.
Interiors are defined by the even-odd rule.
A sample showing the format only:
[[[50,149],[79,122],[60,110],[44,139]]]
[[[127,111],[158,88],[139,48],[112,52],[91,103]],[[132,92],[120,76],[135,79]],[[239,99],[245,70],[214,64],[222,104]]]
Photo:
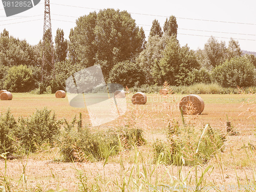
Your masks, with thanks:
[[[167,140],[156,140],[153,144],[155,161],[168,165],[197,165],[208,162],[217,151],[223,150],[225,136],[209,125],[203,131],[194,127],[168,126]]]

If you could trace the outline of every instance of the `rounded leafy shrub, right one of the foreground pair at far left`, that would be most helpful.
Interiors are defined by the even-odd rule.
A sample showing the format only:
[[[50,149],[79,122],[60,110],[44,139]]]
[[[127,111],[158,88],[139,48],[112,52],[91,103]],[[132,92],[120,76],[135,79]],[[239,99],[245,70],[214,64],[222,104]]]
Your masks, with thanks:
[[[18,123],[13,134],[31,152],[44,142],[53,144],[60,133],[61,121],[56,120],[55,114],[51,115],[47,108],[36,110],[30,118],[19,118]]]

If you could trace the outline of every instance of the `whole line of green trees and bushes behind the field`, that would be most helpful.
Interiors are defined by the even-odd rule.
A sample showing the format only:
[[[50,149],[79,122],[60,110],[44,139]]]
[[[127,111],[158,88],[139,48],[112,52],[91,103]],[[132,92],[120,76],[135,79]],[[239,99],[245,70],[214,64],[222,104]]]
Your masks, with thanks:
[[[114,9],[91,12],[76,20],[69,40],[62,29],[54,38],[55,79],[47,81],[51,91],[65,89],[73,73],[100,65],[106,82],[134,87],[142,84],[173,86],[217,82],[223,87],[249,87],[256,83],[256,57],[242,54],[239,42],[228,45],[210,37],[203,49],[181,46],[175,16],[161,27],[153,20],[147,41],[142,28],[127,11]],[[48,42],[51,43],[51,42]],[[0,88],[28,92],[40,86],[42,42],[0,35]],[[51,68],[47,69],[49,77]]]

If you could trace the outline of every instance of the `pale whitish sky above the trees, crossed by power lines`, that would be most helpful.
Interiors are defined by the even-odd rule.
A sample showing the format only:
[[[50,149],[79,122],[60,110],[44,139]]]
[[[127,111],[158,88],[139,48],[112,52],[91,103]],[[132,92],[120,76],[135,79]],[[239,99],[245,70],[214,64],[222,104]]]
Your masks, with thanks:
[[[178,40],[181,46],[191,49],[203,48],[209,36],[226,41],[230,37],[239,41],[242,50],[256,52],[256,1],[215,0],[215,1],[117,1],[117,0],[50,0],[53,38],[57,28],[63,29],[68,39],[71,28],[79,16],[99,9],[114,8],[131,13],[146,36],[152,22],[158,19],[161,27],[166,17],[174,15],[178,23]],[[154,16],[153,16],[154,15]],[[35,45],[42,39],[44,25],[44,0],[23,13],[6,17],[0,2],[0,31],[6,28],[10,35],[26,39]]]

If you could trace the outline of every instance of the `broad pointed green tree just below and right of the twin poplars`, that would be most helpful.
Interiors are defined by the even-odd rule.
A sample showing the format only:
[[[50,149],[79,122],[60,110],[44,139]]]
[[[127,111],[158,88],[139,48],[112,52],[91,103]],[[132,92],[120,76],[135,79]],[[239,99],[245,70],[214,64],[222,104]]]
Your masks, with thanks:
[[[179,86],[185,83],[188,73],[200,67],[194,51],[189,47],[180,47],[175,36],[168,42],[163,51],[163,57],[159,62],[161,79],[160,83],[167,81],[169,84]]]

